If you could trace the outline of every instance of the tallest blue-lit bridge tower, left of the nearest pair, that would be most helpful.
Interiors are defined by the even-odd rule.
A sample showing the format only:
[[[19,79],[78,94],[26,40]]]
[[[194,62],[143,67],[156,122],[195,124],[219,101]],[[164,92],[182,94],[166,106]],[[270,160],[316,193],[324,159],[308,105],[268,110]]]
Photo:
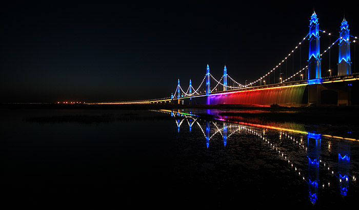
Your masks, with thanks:
[[[321,54],[319,47],[319,24],[315,12],[310,17],[309,24],[309,59],[308,59],[308,83],[321,82]]]

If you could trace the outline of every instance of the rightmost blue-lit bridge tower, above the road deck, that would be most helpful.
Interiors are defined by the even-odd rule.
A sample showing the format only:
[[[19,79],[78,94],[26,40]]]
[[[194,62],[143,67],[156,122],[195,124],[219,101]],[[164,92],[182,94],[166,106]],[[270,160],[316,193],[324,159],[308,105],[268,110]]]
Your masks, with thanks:
[[[343,18],[340,41],[339,41],[339,61],[338,61],[338,75],[351,74],[350,65],[350,41],[349,41],[349,29],[348,22]]]

